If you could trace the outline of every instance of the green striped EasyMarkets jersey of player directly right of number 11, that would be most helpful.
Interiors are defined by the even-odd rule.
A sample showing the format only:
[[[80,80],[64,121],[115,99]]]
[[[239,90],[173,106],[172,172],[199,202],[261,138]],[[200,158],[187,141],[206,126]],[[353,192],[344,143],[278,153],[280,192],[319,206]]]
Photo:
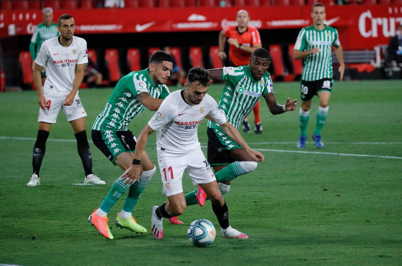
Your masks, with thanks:
[[[271,75],[265,72],[260,80],[254,80],[250,73],[250,65],[224,67],[222,79],[226,84],[218,106],[236,129],[257,104],[261,95],[274,92]],[[219,128],[219,125],[209,121],[208,127]]]

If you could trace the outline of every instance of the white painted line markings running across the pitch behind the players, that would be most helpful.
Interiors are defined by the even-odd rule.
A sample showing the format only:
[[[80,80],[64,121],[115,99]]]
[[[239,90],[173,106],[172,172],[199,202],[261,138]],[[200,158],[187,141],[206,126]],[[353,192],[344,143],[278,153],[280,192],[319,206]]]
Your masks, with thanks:
[[[36,140],[36,138],[32,137],[4,137],[0,136],[0,139],[17,139],[17,140]],[[64,142],[76,142],[75,139],[47,139],[48,141],[64,141]],[[92,141],[88,141],[91,142]],[[267,143],[267,142],[265,142]],[[280,142],[283,143],[283,142]],[[295,143],[295,142],[289,142]],[[327,143],[327,142],[326,142]],[[341,142],[342,143],[342,142]],[[386,142],[387,144],[390,142]],[[207,143],[201,143],[201,148],[206,148]],[[250,143],[252,144],[252,143]],[[149,143],[148,145],[155,145],[155,143]],[[355,157],[374,157],[374,158],[387,158],[387,159],[402,159],[402,157],[396,156],[382,156],[382,155],[369,155],[369,154],[353,154],[353,153],[335,153],[335,152],[320,152],[320,151],[291,151],[285,149],[254,149],[256,151],[276,151],[276,152],[290,152],[290,153],[308,153],[308,154],[326,154],[326,155],[339,155],[339,156],[355,156]]]

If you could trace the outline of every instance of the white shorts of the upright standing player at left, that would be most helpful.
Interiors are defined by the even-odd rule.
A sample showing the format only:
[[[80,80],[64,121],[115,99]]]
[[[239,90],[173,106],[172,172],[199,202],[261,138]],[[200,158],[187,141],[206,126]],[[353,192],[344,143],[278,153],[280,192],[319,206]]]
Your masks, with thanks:
[[[46,98],[46,108],[43,110],[39,107],[38,122],[45,122],[54,124],[56,123],[57,115],[59,115],[60,109],[63,110],[64,115],[67,117],[67,121],[71,122],[81,117],[86,117],[86,112],[82,106],[81,99],[76,94],[74,101],[70,106],[65,106],[64,101],[66,96],[60,96],[58,94],[52,94],[49,92],[43,92]]]

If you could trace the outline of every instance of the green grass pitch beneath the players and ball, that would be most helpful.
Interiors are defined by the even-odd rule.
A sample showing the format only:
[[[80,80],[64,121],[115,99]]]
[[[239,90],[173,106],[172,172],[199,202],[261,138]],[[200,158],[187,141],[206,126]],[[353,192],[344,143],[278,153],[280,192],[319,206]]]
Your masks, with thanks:
[[[299,88],[296,82],[275,83],[277,101],[299,98]],[[110,93],[111,89],[80,91],[88,113],[88,136]],[[222,84],[210,86],[208,93],[219,100]],[[74,133],[62,112],[47,141],[41,186],[27,187],[37,135],[37,96],[35,92],[1,94],[0,264],[401,265],[401,102],[400,81],[335,82],[322,131],[324,149],[317,149],[310,139],[318,109],[315,97],[306,153],[295,153],[299,106],[273,116],[262,100],[263,134],[241,134],[250,147],[264,154],[265,163],[232,181],[225,195],[230,223],[250,238],[224,239],[218,233],[211,246],[196,248],[186,236],[193,220],[209,219],[219,231],[210,203],[188,207],[180,216],[185,225],[165,220],[160,241],[150,231],[140,235],[115,227],[125,196],[109,213],[114,240],[100,237],[90,227],[88,216],[122,171],[90,143],[94,174],[107,184],[73,186],[83,182],[84,171]],[[137,135],[152,114],[145,111],[129,129]],[[198,135],[206,146],[206,121]],[[150,137],[146,151],[156,164],[155,137]],[[183,188],[194,189],[187,175]],[[138,223],[150,230],[150,208],[165,200],[157,171],[133,212]]]

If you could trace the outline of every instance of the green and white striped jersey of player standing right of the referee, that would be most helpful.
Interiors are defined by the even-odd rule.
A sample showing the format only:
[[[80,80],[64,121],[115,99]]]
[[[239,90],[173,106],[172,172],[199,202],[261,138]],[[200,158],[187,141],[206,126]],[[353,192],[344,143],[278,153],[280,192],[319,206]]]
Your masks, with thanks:
[[[311,54],[304,57],[304,68],[301,79],[306,81],[321,80],[323,78],[332,79],[332,57],[331,46],[340,45],[338,31],[325,25],[322,31],[314,26],[301,29],[294,49],[299,51],[308,51],[318,47],[320,51],[317,54]]]

